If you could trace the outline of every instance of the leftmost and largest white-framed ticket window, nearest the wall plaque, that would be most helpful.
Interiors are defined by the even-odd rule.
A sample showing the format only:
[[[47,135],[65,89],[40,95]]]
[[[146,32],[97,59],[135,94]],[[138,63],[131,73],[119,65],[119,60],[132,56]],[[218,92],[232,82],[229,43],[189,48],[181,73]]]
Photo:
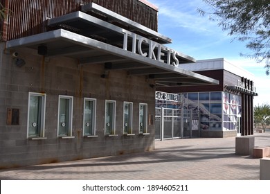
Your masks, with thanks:
[[[27,137],[44,137],[46,94],[29,93]]]

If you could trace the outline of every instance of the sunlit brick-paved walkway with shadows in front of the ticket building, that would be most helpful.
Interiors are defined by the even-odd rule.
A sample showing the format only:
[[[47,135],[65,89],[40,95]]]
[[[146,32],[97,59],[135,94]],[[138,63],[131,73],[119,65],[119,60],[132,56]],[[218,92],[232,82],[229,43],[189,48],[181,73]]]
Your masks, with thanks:
[[[255,132],[255,146],[270,132]],[[156,141],[153,152],[0,170],[0,179],[258,180],[260,159],[235,155],[235,137]]]

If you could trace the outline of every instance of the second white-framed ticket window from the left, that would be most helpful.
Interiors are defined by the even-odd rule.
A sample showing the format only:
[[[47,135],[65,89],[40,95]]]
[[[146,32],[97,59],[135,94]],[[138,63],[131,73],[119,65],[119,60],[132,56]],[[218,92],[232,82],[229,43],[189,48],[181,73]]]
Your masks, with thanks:
[[[58,136],[71,136],[73,97],[60,96],[58,104]]]

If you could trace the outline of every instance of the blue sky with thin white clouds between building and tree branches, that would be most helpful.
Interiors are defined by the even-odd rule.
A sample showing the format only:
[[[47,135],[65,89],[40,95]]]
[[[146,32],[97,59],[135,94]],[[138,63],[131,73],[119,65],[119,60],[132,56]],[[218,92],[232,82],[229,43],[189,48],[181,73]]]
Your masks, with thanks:
[[[206,15],[199,15],[197,8],[208,10],[202,0],[148,0],[159,7],[159,33],[170,37],[167,46],[190,55],[196,60],[225,58],[228,62],[253,73],[256,91],[254,105],[270,104],[270,76],[266,76],[264,64],[258,64],[240,56],[250,54],[244,42],[228,36]]]

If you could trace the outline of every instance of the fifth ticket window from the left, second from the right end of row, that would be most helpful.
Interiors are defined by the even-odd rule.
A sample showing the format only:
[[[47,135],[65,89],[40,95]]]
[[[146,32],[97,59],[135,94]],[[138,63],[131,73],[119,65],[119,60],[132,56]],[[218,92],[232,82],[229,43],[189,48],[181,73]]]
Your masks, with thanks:
[[[132,134],[132,115],[133,115],[133,103],[124,102],[124,111],[123,111],[124,134]]]

